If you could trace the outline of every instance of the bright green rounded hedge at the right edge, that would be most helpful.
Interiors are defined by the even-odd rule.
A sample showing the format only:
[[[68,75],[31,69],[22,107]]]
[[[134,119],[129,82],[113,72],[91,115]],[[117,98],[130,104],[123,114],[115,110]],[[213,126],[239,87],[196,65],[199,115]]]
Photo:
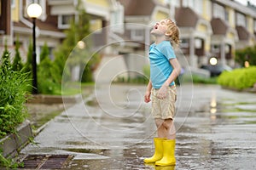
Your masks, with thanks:
[[[253,88],[256,83],[256,66],[248,68],[236,69],[234,71],[224,71],[218,77],[218,84],[226,88],[235,88],[242,90],[245,88]]]

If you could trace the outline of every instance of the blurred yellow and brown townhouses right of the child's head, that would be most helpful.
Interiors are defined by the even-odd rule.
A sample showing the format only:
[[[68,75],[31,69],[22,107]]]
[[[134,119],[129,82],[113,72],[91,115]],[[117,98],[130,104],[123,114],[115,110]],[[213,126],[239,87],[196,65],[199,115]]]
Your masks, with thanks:
[[[235,66],[235,50],[255,44],[256,11],[232,0],[183,0],[175,19],[181,29],[183,54],[190,65],[211,57]]]

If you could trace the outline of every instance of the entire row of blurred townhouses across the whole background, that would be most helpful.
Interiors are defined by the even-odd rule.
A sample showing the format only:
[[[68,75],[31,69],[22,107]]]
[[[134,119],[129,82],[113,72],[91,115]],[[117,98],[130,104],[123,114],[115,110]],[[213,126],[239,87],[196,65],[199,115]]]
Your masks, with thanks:
[[[35,2],[43,7],[43,14],[37,20],[37,54],[47,42],[53,59],[52,51],[65,38],[63,31],[68,29],[69,20],[78,16],[79,0]],[[193,68],[208,64],[212,57],[216,57],[219,63],[235,66],[236,49],[255,44],[255,7],[250,4],[242,6],[234,0],[80,2],[80,7],[90,15],[92,33],[89,37],[93,48],[104,54],[102,66],[109,64],[110,60],[113,62],[116,57],[114,64],[109,66],[117,70],[119,66],[115,73],[126,71],[129,77],[143,74],[143,65],[148,64],[148,46],[153,42],[151,26],[167,17],[176,21],[180,29],[180,48]],[[0,0],[0,3],[0,50],[3,51],[7,43],[14,52],[14,42],[19,37],[20,52],[26,56],[32,37],[32,20],[28,18],[26,8],[32,0]]]

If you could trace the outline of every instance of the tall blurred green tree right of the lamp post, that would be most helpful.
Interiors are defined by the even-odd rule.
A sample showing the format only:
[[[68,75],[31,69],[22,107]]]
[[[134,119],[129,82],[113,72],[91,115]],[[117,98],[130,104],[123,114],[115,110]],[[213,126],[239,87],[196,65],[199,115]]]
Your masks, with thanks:
[[[79,3],[81,3],[79,1]],[[59,80],[62,78],[63,71],[67,80],[71,78],[71,72],[74,67],[82,69],[86,65],[84,71],[80,71],[79,77],[82,77],[83,82],[92,81],[92,67],[94,62],[89,62],[90,58],[90,41],[85,42],[84,37],[90,34],[90,18],[89,15],[85,13],[83,8],[80,8],[82,5],[78,5],[78,20],[71,20],[70,28],[65,31],[67,37],[63,40],[61,46],[55,51],[55,70],[58,74]],[[75,48],[78,45],[78,42],[84,42],[85,48],[79,49]],[[81,57],[83,56],[83,57]],[[97,57],[98,55],[94,55]],[[66,65],[68,59],[68,64]],[[98,62],[99,59],[94,59],[93,61]],[[65,65],[67,68],[64,68]],[[82,76],[86,75],[86,76]],[[85,78],[83,78],[85,77]],[[87,77],[87,78],[86,78]],[[90,78],[89,78],[90,77]]]

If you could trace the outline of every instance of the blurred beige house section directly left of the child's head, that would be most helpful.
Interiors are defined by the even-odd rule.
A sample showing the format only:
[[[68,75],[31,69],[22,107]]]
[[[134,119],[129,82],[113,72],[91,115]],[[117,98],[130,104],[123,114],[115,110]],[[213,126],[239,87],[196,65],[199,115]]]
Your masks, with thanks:
[[[143,77],[143,67],[148,65],[148,48],[153,42],[150,30],[154,23],[169,17],[170,9],[162,0],[119,0],[125,8],[125,47],[117,48],[125,57],[128,75]]]

